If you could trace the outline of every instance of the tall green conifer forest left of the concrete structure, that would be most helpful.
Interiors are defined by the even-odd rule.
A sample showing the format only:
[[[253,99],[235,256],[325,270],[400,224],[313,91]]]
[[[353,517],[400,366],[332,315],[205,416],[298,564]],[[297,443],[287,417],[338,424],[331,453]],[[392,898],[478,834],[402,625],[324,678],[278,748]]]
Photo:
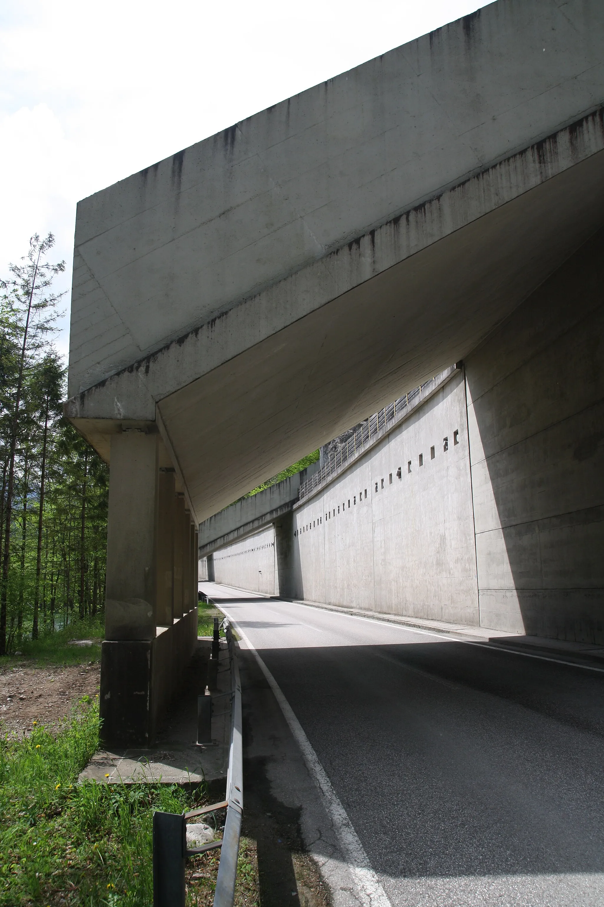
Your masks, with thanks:
[[[104,603],[109,471],[62,416],[54,239],[0,280],[0,655]]]

